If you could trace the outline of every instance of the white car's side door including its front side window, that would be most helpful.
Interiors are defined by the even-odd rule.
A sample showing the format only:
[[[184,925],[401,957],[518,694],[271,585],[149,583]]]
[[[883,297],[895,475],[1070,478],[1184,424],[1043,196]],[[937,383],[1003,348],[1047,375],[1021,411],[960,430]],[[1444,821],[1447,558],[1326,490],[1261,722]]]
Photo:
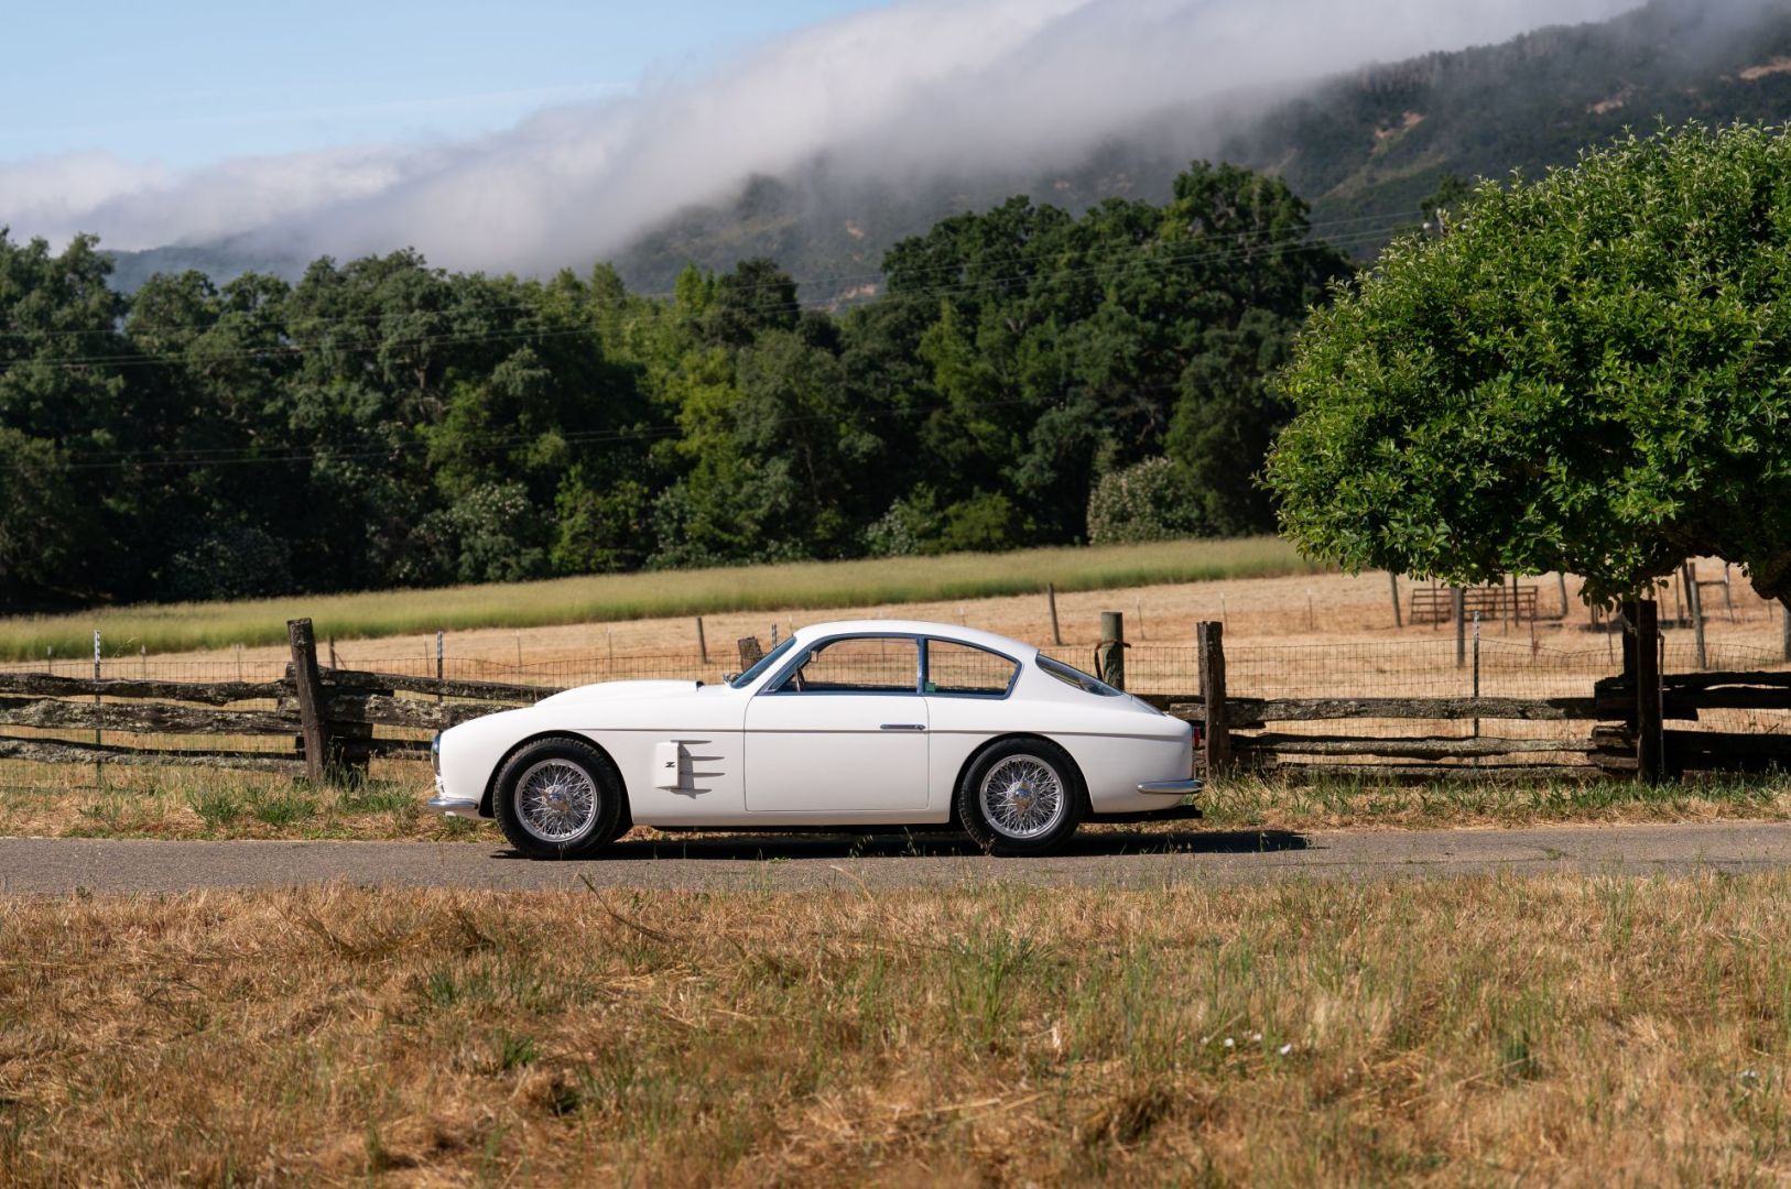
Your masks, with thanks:
[[[842,817],[924,809],[919,650],[912,636],[806,646],[747,704],[747,809]]]

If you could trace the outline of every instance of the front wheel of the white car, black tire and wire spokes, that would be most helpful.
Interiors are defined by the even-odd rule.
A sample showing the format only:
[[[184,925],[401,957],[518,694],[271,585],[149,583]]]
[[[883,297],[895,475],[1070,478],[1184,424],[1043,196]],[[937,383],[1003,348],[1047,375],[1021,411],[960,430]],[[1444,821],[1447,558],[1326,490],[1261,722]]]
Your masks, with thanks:
[[[589,788],[587,809],[578,777]],[[548,820],[555,815],[553,806],[537,804],[536,813],[523,808],[525,781],[536,781],[532,791],[541,795],[553,786],[543,790],[539,781],[555,779],[570,783],[557,797],[571,802],[559,829]],[[589,858],[629,827],[621,774],[609,756],[580,740],[539,740],[518,748],[498,770],[491,800],[503,836],[532,860]]]

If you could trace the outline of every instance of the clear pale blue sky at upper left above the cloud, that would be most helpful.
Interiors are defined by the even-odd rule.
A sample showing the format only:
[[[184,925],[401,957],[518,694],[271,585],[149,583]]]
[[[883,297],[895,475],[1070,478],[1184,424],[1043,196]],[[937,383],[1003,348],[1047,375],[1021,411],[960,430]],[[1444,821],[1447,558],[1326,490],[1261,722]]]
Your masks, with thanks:
[[[496,131],[881,0],[143,0],[0,7],[0,161],[192,167]],[[79,18],[73,13],[79,7]]]

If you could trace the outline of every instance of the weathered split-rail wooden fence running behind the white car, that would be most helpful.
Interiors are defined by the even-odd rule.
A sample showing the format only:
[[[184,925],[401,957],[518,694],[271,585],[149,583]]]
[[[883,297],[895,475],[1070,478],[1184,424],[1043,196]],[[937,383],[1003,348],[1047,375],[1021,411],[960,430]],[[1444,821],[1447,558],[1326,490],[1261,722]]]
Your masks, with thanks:
[[[1791,734],[1666,731],[1705,711],[1791,711],[1791,673],[1689,673],[1662,679],[1655,603],[1624,611],[1624,673],[1590,697],[1565,698],[1248,698],[1230,697],[1225,632],[1202,623],[1198,693],[1148,695],[1200,727],[1211,774],[1257,770],[1288,777],[1524,779],[1615,775],[1655,781],[1705,770],[1791,766]],[[1103,616],[1094,668],[1125,686],[1123,616]],[[0,759],[93,765],[204,765],[304,775],[364,774],[374,757],[426,759],[416,732],[442,731],[555,689],[487,680],[322,670],[308,620],[288,623],[292,663],[272,682],[176,682],[0,673],[0,727],[63,738],[0,738]],[[1642,645],[1639,641],[1651,641]],[[750,646],[749,646],[750,645]],[[741,663],[758,652],[741,641]],[[244,707],[256,702],[256,707]],[[1472,736],[1440,734],[1474,723]],[[1356,723],[1354,727],[1340,723]],[[1374,723],[1374,727],[1365,727]],[[1411,723],[1418,734],[1384,734]],[[1487,723],[1531,723],[1522,732],[1483,732]],[[1535,734],[1542,723],[1542,734]],[[1578,723],[1578,731],[1571,729]],[[1297,729],[1300,725],[1311,729]],[[376,729],[389,729],[378,736]],[[70,740],[73,732],[143,736],[283,738],[261,750],[179,750]],[[390,731],[408,732],[394,738]]]

